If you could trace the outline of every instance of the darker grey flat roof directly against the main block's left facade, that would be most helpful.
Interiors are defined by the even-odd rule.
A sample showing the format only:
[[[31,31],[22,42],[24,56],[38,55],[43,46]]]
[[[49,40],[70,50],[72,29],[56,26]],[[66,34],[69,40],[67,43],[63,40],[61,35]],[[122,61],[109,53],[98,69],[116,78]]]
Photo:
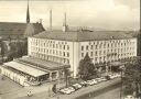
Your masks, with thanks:
[[[59,64],[59,63],[55,63],[55,62],[51,62],[51,61],[43,61],[40,58],[30,57],[30,56],[23,56],[22,58],[19,58],[19,61],[24,62],[30,65],[39,66],[41,68],[45,68],[48,70],[56,70],[56,69],[62,69],[64,67],[65,68],[70,67],[70,65]]]

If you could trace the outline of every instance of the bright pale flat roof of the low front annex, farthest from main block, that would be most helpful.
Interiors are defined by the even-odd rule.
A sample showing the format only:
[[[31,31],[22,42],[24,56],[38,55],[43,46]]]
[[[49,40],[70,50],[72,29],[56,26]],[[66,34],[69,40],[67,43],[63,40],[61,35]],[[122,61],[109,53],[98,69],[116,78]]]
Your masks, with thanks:
[[[40,69],[33,68],[33,67],[20,64],[20,63],[14,62],[14,61],[9,62],[9,63],[4,63],[4,65],[9,66],[9,67],[12,67],[14,69],[18,69],[20,72],[26,73],[26,74],[29,74],[31,76],[34,76],[34,77],[39,77],[39,76],[47,74],[43,70],[40,70]]]

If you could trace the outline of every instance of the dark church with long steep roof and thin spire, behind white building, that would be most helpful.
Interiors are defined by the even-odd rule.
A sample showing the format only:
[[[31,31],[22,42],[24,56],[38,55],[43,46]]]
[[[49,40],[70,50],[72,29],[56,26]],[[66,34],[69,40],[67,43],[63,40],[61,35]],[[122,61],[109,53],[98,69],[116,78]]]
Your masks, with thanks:
[[[28,3],[26,23],[0,22],[1,56],[7,57],[7,61],[11,61],[19,56],[26,55],[28,36],[32,36],[42,31],[44,31],[42,22],[30,23],[30,10]]]

